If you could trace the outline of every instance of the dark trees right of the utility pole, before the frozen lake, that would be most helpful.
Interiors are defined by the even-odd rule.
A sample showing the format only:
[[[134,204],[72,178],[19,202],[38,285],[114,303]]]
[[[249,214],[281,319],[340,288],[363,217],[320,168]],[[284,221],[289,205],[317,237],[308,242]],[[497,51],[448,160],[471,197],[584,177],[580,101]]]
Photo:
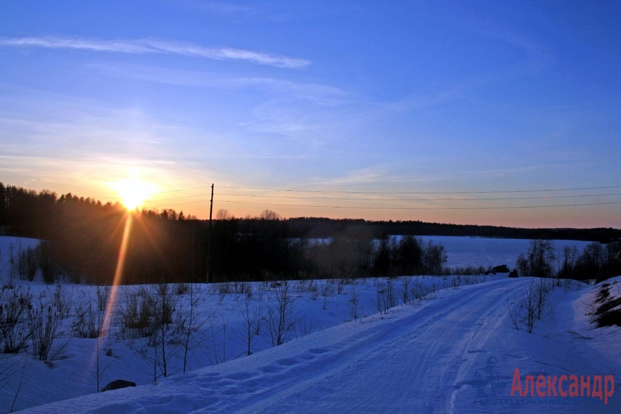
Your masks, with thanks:
[[[440,275],[446,262],[443,246],[414,236],[378,240],[369,228],[353,224],[317,239],[270,210],[259,218],[220,219],[213,235],[209,270],[214,281]]]

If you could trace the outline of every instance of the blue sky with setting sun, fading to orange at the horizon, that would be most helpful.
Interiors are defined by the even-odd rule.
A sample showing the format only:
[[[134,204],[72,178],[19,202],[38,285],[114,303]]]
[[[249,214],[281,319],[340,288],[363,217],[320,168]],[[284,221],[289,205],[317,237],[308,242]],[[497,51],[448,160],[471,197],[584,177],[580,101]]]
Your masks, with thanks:
[[[0,181],[621,228],[616,1],[0,2]]]

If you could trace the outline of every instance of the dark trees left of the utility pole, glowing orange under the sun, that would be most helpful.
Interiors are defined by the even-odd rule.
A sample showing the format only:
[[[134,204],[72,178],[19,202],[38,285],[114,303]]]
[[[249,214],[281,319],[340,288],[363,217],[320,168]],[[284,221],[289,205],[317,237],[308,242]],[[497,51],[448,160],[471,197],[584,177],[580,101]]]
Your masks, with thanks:
[[[127,239],[121,283],[204,281],[207,226],[173,210],[136,211]],[[101,203],[71,193],[58,197],[0,183],[1,234],[42,239],[36,252],[43,278],[109,284],[114,279],[127,211],[119,203]],[[9,260],[22,274],[22,256]],[[201,277],[202,275],[202,277]]]

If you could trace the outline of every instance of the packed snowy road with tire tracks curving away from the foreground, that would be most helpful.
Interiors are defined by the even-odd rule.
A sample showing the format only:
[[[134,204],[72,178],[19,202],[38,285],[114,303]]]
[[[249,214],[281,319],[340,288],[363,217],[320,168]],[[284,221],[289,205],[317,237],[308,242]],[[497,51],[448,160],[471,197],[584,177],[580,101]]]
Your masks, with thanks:
[[[314,349],[322,352],[315,357],[302,353],[274,361],[266,368],[281,364],[287,369],[264,370],[261,390],[238,396],[231,404],[220,400],[224,405],[217,409],[450,412],[463,357],[485,345],[481,326],[494,313],[500,323],[507,287],[519,290],[526,284],[498,280],[462,287],[428,301],[411,315],[362,328],[343,341],[317,344]],[[352,401],[358,403],[352,406]]]

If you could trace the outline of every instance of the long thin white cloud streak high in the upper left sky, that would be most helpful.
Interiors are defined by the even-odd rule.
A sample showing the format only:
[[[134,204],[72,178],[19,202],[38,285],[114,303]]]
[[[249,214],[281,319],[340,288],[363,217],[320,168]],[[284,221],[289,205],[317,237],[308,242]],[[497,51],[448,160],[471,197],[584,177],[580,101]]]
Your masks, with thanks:
[[[232,47],[204,47],[160,40],[100,40],[79,37],[20,37],[0,39],[0,45],[12,47],[71,48],[109,53],[165,53],[214,60],[242,60],[279,68],[302,68],[311,61]]]

